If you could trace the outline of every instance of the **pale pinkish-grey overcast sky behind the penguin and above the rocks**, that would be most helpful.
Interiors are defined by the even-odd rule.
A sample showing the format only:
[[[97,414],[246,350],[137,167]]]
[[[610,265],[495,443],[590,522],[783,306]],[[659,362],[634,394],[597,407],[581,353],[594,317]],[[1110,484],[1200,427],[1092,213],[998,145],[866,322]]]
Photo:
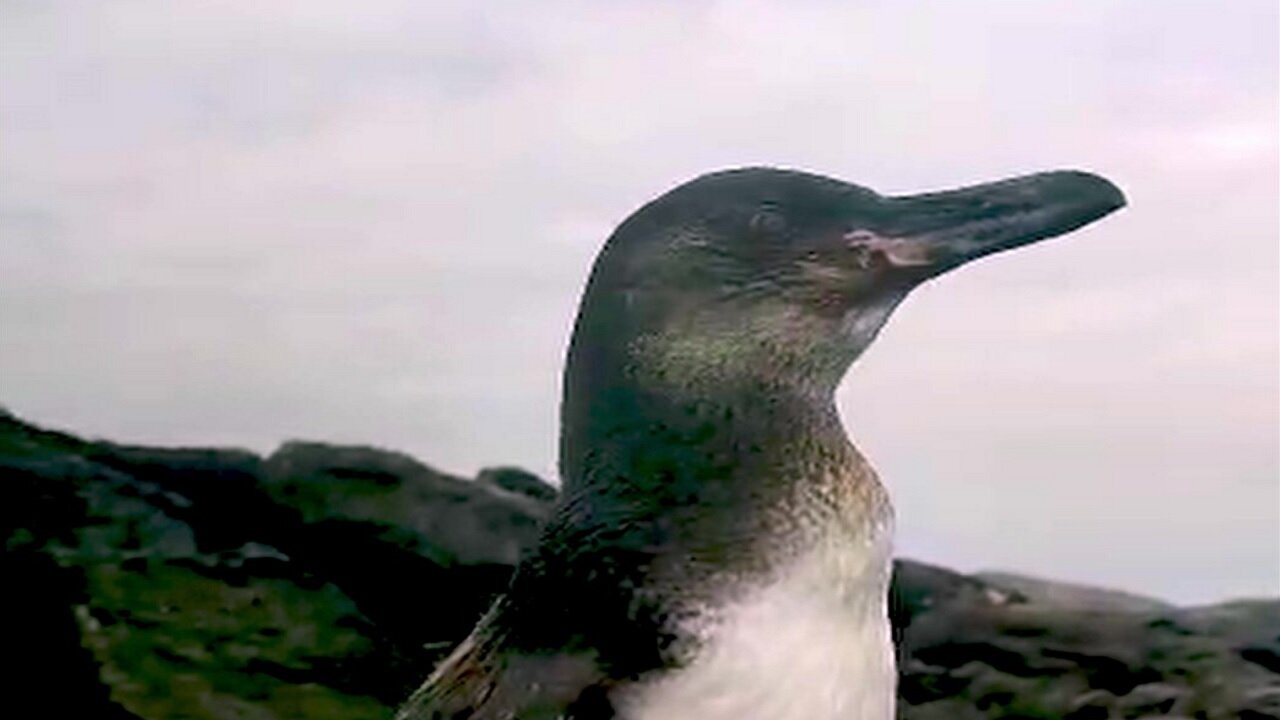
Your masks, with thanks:
[[[0,404],[554,468],[609,231],[709,169],[1130,206],[919,290],[840,392],[900,553],[1280,593],[1277,4],[0,3]]]

